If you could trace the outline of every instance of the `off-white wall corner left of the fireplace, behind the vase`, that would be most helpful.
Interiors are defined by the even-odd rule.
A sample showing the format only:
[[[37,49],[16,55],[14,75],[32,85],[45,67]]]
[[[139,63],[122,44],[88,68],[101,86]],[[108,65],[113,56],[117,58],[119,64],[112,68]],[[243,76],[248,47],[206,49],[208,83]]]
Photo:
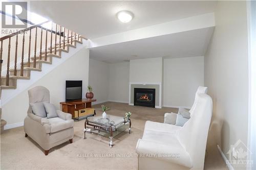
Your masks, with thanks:
[[[106,63],[90,59],[89,84],[97,102],[122,102],[129,100],[129,62]]]

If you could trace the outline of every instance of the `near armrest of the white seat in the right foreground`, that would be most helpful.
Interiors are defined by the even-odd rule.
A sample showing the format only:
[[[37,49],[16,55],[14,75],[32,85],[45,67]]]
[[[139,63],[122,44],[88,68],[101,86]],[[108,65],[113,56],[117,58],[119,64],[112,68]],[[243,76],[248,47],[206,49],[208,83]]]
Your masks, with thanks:
[[[169,163],[179,164],[188,168],[193,167],[193,162],[189,154],[181,145],[173,146],[139,139],[136,146],[136,153],[139,157],[152,156],[156,159],[168,161]]]

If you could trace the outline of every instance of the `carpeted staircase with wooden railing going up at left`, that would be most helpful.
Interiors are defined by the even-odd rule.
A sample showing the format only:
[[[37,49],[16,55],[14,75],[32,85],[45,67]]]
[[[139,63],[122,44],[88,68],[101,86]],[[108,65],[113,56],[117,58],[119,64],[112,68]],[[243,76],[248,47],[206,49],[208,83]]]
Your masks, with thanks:
[[[46,24],[49,25],[49,22],[51,29],[44,27]],[[25,34],[29,38],[25,39]],[[22,43],[18,43],[20,37],[22,37]],[[30,80],[32,72],[42,71],[43,65],[53,64],[55,58],[61,60],[61,54],[70,53],[70,48],[76,48],[78,43],[84,42],[83,40],[87,39],[51,21],[1,37],[0,99],[2,90],[16,89],[19,79]],[[8,46],[3,47],[4,43]],[[13,46],[15,47],[11,48]],[[25,51],[28,53],[26,56]],[[19,53],[20,58],[17,57]],[[13,59],[12,62],[11,59]],[[3,66],[3,63],[6,65]],[[1,130],[5,124],[5,120],[1,120]]]

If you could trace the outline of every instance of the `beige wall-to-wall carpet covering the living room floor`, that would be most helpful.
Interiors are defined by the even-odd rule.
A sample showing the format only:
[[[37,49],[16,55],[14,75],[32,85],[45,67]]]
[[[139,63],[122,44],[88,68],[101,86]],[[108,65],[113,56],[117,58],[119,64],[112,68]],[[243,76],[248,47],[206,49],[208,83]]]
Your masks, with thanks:
[[[48,156],[31,138],[25,138],[23,127],[6,130],[1,135],[1,169],[137,169],[135,147],[142,137],[146,120],[163,122],[166,112],[177,112],[172,108],[147,108],[107,102],[111,108],[107,113],[123,116],[132,112],[132,131],[122,132],[114,138],[111,149],[108,139],[88,134],[83,139],[84,120],[75,122],[74,139],[50,150]],[[100,105],[94,106],[101,115]],[[100,141],[102,140],[102,141]],[[205,169],[227,169],[217,148],[207,151]]]

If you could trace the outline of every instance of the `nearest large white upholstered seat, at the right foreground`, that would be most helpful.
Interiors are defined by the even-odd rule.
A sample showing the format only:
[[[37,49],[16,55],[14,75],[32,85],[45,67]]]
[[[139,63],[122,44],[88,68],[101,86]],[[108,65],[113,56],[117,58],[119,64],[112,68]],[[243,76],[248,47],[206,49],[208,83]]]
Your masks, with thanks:
[[[146,123],[136,146],[138,169],[203,169],[212,100],[202,93],[197,98],[195,114],[183,127]]]

